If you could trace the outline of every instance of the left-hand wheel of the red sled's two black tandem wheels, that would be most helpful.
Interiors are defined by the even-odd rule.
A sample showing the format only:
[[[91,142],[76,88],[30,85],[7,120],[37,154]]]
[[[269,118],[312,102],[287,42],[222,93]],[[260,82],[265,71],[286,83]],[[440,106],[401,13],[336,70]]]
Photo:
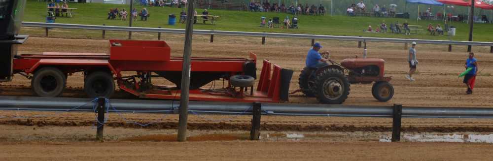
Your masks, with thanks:
[[[40,97],[58,97],[65,90],[67,77],[56,67],[43,67],[35,72],[31,88]]]

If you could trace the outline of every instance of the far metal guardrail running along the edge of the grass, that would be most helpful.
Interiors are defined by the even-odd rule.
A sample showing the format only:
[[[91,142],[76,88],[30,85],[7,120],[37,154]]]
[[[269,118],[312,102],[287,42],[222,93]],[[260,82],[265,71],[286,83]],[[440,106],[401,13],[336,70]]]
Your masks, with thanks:
[[[38,23],[38,22],[22,22],[22,26],[24,26],[24,27],[39,27],[39,28],[122,31],[122,32],[185,33],[184,29],[141,28],[141,27],[78,25],[78,24],[55,24],[55,23]],[[422,39],[359,37],[359,36],[332,36],[332,35],[317,35],[317,34],[293,34],[293,33],[270,33],[270,32],[230,32],[230,31],[213,31],[213,30],[194,30],[193,32],[194,32],[194,34],[208,34],[208,35],[303,38],[303,39],[312,39],[312,40],[313,39],[344,40],[344,41],[364,41],[365,40],[365,41],[371,41],[371,42],[393,42],[393,43],[411,43],[411,42],[415,41],[417,43],[423,43],[423,44],[492,46],[492,49],[493,49],[493,42],[478,42],[478,41],[422,40]]]

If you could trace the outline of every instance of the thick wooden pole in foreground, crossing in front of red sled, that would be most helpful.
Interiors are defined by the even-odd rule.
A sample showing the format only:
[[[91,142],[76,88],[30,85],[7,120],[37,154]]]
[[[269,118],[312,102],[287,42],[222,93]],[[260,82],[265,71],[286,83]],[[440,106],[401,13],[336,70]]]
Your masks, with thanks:
[[[181,96],[178,120],[178,141],[186,141],[186,128],[188,120],[188,94],[190,90],[190,55],[192,54],[193,35],[193,11],[195,0],[188,0],[188,11],[186,16],[185,49],[183,50],[183,66],[181,72]]]

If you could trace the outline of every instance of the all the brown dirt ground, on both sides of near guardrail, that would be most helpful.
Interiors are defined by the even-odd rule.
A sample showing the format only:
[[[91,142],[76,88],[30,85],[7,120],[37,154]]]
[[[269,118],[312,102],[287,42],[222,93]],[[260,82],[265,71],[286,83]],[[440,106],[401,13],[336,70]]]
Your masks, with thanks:
[[[144,35],[145,33],[142,33]],[[142,36],[141,35],[141,36]],[[174,56],[183,53],[180,35],[164,36]],[[352,41],[321,41],[322,51],[340,62],[361,57],[362,48]],[[261,45],[258,37],[195,36],[193,56],[241,57],[255,52],[258,60],[268,59],[295,71],[290,91],[298,89],[299,71],[304,67],[310,48],[306,39],[271,39]],[[107,40],[30,37],[19,46],[19,53],[79,52],[108,53]],[[447,52],[446,45],[418,44],[417,81],[404,78],[409,70],[407,50],[403,44],[368,43],[368,57],[386,61],[385,72],[392,76],[394,97],[379,102],[371,95],[371,84],[351,86],[345,105],[492,107],[493,54],[489,47],[473,47],[479,73],[473,95],[465,94],[465,86],[458,73],[464,70],[467,58],[464,46],[454,46]],[[128,64],[132,65],[132,64]],[[261,64],[257,64],[258,74]],[[192,66],[193,68],[193,66]],[[132,73],[126,73],[132,74]],[[169,84],[154,79],[156,84]],[[222,81],[216,82],[222,84]],[[0,95],[33,96],[30,80],[16,75],[12,82],[0,84]],[[80,74],[69,76],[68,89],[62,97],[85,97]],[[208,86],[209,87],[209,86]],[[134,98],[122,92],[116,98]],[[289,103],[317,103],[315,98],[295,94]],[[281,117],[262,116],[261,141],[246,141],[251,116],[189,116],[189,140],[199,142],[168,142],[176,140],[177,115],[110,114],[105,129],[106,142],[94,142],[96,130],[93,113],[62,113],[39,118],[35,115],[53,112],[0,111],[1,161],[52,160],[489,160],[493,145],[481,143],[381,143],[382,135],[389,135],[391,119],[337,117]],[[159,122],[147,127],[141,123]],[[492,133],[492,119],[403,119],[405,133]],[[288,131],[288,132],[286,132]],[[293,140],[272,137],[285,133],[303,133],[311,138]],[[271,136],[268,137],[268,134]],[[154,142],[158,141],[158,142]],[[29,153],[28,153],[29,152]]]

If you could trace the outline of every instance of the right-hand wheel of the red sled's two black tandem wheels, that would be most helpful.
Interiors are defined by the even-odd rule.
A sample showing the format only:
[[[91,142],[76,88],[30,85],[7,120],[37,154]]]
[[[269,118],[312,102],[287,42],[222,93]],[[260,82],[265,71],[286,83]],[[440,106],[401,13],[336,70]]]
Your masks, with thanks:
[[[104,71],[91,72],[84,80],[84,92],[89,98],[110,98],[115,92],[113,76]]]

